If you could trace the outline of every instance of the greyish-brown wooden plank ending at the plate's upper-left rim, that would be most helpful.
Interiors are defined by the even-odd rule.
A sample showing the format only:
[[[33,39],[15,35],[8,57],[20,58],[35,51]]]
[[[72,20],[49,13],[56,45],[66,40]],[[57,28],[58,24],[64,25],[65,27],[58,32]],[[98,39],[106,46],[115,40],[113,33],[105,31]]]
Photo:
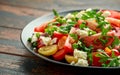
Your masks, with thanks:
[[[22,29],[30,21],[35,19],[32,16],[21,16],[5,11],[0,11],[0,26]]]

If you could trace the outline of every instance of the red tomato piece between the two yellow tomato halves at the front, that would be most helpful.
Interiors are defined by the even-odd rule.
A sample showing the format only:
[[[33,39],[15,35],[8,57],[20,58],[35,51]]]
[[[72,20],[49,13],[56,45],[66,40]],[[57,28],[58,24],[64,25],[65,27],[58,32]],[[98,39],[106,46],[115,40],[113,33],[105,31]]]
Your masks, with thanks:
[[[65,58],[65,50],[62,49],[62,50],[59,50],[58,52],[56,52],[54,55],[53,55],[53,58],[57,61],[60,61],[60,60],[63,60]]]

